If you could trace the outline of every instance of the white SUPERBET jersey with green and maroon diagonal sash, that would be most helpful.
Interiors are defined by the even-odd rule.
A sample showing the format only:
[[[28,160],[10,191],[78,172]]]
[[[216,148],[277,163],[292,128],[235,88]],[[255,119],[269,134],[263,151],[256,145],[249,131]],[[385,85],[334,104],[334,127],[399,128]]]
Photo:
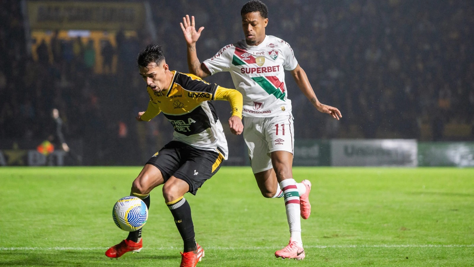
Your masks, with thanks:
[[[258,46],[249,46],[242,39],[225,46],[203,64],[211,75],[230,72],[234,86],[244,97],[244,116],[291,115],[284,71],[295,69],[298,61],[293,49],[282,39],[266,35]]]

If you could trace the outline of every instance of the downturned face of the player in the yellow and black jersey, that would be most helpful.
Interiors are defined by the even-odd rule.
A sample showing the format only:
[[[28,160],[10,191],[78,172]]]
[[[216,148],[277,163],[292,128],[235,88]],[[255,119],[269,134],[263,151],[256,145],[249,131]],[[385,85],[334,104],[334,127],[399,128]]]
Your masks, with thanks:
[[[138,70],[140,71],[143,80],[146,82],[146,85],[150,86],[154,92],[161,92],[168,89],[170,86],[171,79],[169,75],[171,72],[168,64],[164,61],[162,61],[159,66],[153,62],[147,67],[139,67]]]

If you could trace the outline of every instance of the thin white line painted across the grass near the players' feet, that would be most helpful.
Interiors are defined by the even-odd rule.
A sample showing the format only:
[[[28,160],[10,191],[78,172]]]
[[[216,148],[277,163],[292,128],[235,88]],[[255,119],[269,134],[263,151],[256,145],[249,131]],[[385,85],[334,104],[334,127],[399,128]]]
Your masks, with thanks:
[[[0,247],[0,251],[8,250],[103,250],[108,247],[93,247],[93,248],[77,248],[77,247],[52,247],[52,248],[43,248],[43,247]],[[166,249],[181,249],[182,247],[158,247],[152,248],[148,247],[146,250],[166,250]],[[216,249],[216,250],[257,250],[257,249],[275,249],[276,247],[205,247],[206,249]],[[330,245],[330,246],[304,246],[304,248],[474,248],[472,245],[457,245],[457,244],[447,244],[447,245]]]

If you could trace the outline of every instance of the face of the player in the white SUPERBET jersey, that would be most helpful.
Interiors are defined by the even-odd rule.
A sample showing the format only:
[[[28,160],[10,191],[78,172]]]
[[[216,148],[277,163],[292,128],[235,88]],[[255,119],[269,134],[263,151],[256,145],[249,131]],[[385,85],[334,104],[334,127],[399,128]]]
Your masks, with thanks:
[[[265,27],[268,18],[260,16],[260,12],[250,12],[242,15],[242,29],[244,29],[247,45],[258,46],[265,38]]]

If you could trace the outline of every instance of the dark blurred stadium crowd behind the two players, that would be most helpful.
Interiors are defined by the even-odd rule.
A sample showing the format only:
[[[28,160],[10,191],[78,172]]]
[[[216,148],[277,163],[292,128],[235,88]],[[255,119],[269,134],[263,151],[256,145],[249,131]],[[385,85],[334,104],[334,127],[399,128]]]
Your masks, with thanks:
[[[264,2],[266,33],[290,43],[319,100],[343,114],[339,122],[318,114],[287,74],[296,138],[473,140],[473,2]],[[44,138],[53,127],[53,108],[63,118],[66,139],[85,140],[84,154],[102,161],[118,153],[123,162],[111,157],[113,163],[142,163],[171,138],[163,116],[146,124],[134,119],[148,101],[135,67],[137,53],[152,42],[147,32],[113,33],[116,45],[104,42],[97,51],[87,38],[61,41],[51,29],[51,42],[36,46],[34,60],[19,3],[0,3],[1,139]],[[243,3],[152,3],[157,42],[171,69],[188,71],[182,16],[195,15],[196,26],[205,27],[197,45],[202,61],[243,38]],[[100,71],[94,69],[97,54],[105,63]],[[233,87],[228,74],[208,81]],[[229,116],[225,104],[218,103],[223,124]],[[240,137],[227,136],[230,145],[244,146]]]

